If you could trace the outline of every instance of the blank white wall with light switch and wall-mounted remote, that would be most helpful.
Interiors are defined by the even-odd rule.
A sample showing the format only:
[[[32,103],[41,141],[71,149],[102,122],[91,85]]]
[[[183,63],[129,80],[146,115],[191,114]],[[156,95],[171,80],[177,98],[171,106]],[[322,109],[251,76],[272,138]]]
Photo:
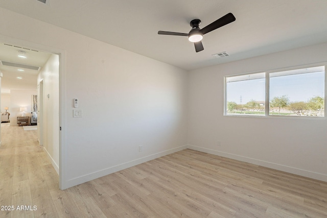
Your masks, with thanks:
[[[185,70],[3,8],[0,36],[65,51],[63,188],[185,148]]]

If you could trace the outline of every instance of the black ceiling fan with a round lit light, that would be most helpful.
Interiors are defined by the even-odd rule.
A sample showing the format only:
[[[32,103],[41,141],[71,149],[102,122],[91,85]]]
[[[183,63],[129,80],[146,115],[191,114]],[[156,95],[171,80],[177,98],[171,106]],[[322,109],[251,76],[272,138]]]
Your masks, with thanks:
[[[232,13],[228,13],[225,16],[222,16],[218,20],[210,23],[208,26],[204,27],[203,29],[200,29],[199,26],[201,24],[201,20],[194,19],[190,22],[190,26],[192,27],[192,30],[189,33],[176,33],[176,32],[168,32],[168,31],[158,31],[159,35],[172,35],[172,36],[188,36],[189,41],[194,42],[195,51],[201,52],[203,49],[203,45],[201,40],[203,39],[203,35],[211,32],[213,30],[216,30],[222,26],[227,25],[228,23],[231,23],[235,21],[236,18]]]

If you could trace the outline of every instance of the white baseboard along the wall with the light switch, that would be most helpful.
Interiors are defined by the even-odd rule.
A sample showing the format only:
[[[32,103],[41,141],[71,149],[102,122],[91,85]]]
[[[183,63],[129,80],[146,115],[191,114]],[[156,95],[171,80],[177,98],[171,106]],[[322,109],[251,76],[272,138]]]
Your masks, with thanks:
[[[180,146],[178,148],[174,148],[174,149],[166,150],[166,151],[163,151],[163,152],[155,153],[155,154],[152,154],[152,155],[149,155],[149,156],[146,156],[146,157],[142,157],[142,158],[139,158],[139,159],[128,161],[126,163],[122,163],[122,164],[115,165],[115,166],[112,166],[112,167],[109,167],[109,168],[101,169],[100,171],[97,171],[97,172],[93,172],[93,173],[86,174],[86,175],[83,175],[83,176],[80,176],[80,177],[69,179],[69,180],[66,181],[65,187],[66,188],[73,187],[75,185],[82,184],[84,182],[88,182],[90,180],[94,180],[94,179],[97,179],[97,178],[100,178],[100,177],[103,177],[103,176],[106,176],[106,175],[121,171],[122,169],[126,169],[126,168],[129,168],[129,167],[132,167],[132,166],[135,166],[135,165],[138,165],[138,164],[141,164],[141,163],[156,159],[158,157],[162,157],[162,156],[165,156],[165,155],[169,155],[169,154],[184,150],[186,148],[187,148],[186,145],[185,146]]]

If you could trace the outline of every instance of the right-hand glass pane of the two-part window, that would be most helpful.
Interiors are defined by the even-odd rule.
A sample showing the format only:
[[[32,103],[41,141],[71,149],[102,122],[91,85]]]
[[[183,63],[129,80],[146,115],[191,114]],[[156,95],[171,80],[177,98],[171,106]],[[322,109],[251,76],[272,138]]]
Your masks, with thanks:
[[[269,115],[324,116],[324,66],[269,74]]]

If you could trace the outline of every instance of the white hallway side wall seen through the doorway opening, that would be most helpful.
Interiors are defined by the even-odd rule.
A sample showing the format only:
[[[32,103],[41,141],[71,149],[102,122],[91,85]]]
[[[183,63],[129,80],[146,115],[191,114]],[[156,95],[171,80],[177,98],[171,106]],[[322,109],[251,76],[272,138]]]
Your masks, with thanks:
[[[59,55],[52,54],[42,67],[37,84],[41,80],[43,80],[43,148],[59,173]],[[41,117],[39,119],[42,120]]]

